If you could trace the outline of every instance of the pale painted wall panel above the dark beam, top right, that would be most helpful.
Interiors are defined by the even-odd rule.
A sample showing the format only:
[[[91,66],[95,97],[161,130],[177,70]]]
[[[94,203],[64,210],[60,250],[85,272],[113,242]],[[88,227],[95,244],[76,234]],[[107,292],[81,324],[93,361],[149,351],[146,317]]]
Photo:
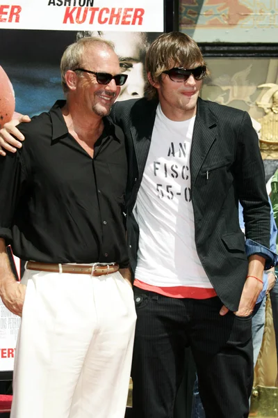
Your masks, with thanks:
[[[180,30],[197,42],[277,42],[277,0],[181,0]]]

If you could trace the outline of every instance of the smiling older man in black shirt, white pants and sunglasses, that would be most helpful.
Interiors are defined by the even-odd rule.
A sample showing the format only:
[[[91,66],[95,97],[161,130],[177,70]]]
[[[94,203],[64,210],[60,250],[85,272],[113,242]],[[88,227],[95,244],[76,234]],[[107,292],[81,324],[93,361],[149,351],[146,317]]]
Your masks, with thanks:
[[[127,76],[100,38],[67,47],[60,68],[67,100],[20,125],[24,148],[0,161],[0,295],[22,315],[11,417],[122,418],[136,313],[124,135],[108,114]],[[29,260],[22,284],[10,243]]]

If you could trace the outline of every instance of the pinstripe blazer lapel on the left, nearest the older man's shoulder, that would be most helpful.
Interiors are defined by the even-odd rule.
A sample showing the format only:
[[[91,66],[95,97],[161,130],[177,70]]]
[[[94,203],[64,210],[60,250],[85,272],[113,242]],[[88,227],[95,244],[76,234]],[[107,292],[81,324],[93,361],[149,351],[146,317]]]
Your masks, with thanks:
[[[131,137],[133,139],[133,148],[135,150],[136,161],[138,165],[138,177],[142,178],[149,146],[151,144],[152,130],[156,118],[157,102],[147,102],[144,111],[140,111],[140,119],[131,126]],[[138,111],[138,110],[137,110]]]

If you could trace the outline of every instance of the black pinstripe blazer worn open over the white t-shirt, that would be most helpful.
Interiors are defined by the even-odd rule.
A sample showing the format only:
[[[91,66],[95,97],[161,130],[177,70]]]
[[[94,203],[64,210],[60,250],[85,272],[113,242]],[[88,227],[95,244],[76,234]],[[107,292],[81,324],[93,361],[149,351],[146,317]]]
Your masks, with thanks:
[[[126,100],[111,116],[126,135],[128,245],[136,268],[138,225],[132,215],[154,127],[157,102]],[[238,223],[244,208],[245,235],[270,244],[270,206],[259,141],[247,112],[198,99],[190,153],[195,243],[200,261],[222,302],[238,309],[247,274],[245,237]],[[186,256],[186,254],[185,254]]]

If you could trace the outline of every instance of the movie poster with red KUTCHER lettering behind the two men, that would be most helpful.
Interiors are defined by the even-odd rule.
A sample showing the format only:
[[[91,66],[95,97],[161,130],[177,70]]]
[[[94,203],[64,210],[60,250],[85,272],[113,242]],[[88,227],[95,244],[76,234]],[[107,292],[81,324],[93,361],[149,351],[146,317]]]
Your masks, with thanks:
[[[117,100],[142,97],[145,53],[163,30],[163,0],[6,0],[0,4],[0,125],[14,110],[34,116],[63,99],[60,58],[84,36],[113,41],[129,75]],[[0,371],[8,371],[20,318],[1,300],[0,309]]]

